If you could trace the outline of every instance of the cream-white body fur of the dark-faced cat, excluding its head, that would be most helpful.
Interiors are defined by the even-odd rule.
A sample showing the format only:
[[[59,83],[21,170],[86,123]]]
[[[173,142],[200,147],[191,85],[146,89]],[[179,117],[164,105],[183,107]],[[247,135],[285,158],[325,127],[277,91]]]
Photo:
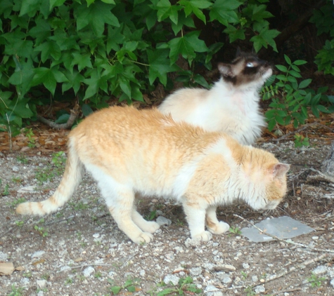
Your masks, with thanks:
[[[158,109],[175,121],[228,133],[240,144],[254,144],[266,126],[258,90],[271,74],[269,69],[262,80],[237,88],[222,78],[210,90],[182,88],[166,97]]]

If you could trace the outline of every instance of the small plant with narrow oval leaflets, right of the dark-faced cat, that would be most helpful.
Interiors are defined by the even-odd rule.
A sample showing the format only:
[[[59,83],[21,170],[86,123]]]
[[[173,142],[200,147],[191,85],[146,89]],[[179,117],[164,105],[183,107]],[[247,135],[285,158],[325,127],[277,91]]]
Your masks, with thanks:
[[[271,99],[269,109],[266,112],[268,129],[273,130],[276,123],[283,126],[293,121],[293,126],[297,128],[308,118],[309,109],[319,117],[319,112],[333,112],[333,107],[325,107],[329,102],[329,97],[324,95],[327,87],[318,88],[315,92],[307,88],[311,79],[302,79],[300,74],[300,65],[306,64],[304,60],[295,60],[292,62],[288,55],[284,55],[285,65],[276,65],[276,68],[282,73],[274,75],[268,83],[262,88],[264,100]]]

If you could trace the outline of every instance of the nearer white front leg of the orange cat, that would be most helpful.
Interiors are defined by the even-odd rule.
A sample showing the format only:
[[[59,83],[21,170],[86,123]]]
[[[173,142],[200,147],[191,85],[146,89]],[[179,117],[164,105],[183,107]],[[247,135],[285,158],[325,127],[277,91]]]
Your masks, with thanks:
[[[205,231],[205,208],[198,203],[184,202],[184,213],[189,225],[191,238],[199,238],[201,241],[210,241],[212,234]]]

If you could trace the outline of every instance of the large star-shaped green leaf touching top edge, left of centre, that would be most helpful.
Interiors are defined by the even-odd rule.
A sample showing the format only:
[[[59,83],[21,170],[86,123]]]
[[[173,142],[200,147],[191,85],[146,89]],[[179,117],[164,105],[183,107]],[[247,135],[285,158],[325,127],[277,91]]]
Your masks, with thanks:
[[[110,11],[111,8],[113,8],[112,5],[105,4],[102,1],[97,1],[89,7],[78,6],[75,10],[77,29],[81,30],[89,25],[94,34],[99,37],[103,34],[105,24],[120,27],[120,22]]]

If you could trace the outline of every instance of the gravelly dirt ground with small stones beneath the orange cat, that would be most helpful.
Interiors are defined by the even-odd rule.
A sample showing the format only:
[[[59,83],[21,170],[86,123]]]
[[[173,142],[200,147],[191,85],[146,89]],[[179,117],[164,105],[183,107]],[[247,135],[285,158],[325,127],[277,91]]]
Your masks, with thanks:
[[[197,244],[187,239],[181,206],[162,199],[140,199],[139,211],[171,224],[162,225],[149,244],[132,243],[117,229],[88,175],[53,215],[16,215],[23,199],[41,201],[52,194],[64,156],[33,148],[0,152],[0,262],[16,268],[0,276],[0,295],[334,295],[334,210],[328,198],[334,186],[307,179],[330,146],[325,140],[310,144],[259,143],[292,164],[288,196],[272,211],[237,203],[219,208],[231,231]],[[302,245],[254,243],[238,231],[250,227],[248,222],[233,214],[252,222],[287,215],[314,231],[291,239]]]

